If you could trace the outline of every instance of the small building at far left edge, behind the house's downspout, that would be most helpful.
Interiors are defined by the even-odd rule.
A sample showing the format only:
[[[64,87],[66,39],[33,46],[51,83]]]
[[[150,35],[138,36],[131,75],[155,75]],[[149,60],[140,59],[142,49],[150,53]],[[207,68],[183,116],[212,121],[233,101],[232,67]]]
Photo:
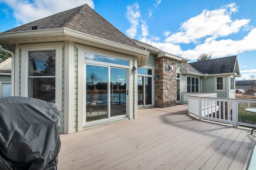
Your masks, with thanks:
[[[0,98],[11,96],[12,59],[0,63]]]

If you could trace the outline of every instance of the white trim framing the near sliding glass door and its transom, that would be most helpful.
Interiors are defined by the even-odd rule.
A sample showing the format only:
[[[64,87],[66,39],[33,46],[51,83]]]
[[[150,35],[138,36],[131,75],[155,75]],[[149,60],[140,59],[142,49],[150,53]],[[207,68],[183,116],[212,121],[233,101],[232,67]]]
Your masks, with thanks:
[[[127,117],[132,119],[132,115],[130,115],[130,111],[133,111],[132,107],[132,60],[134,57],[124,55],[121,53],[115,53],[112,51],[106,51],[104,49],[97,49],[94,47],[89,47],[86,45],[80,45],[80,44],[75,44],[76,48],[78,49],[78,131],[82,131],[83,127],[91,126],[91,125],[96,125],[96,124],[101,124],[101,123],[106,123],[110,122],[113,120],[119,120],[123,119],[123,115],[121,117],[112,117],[108,118],[108,120],[104,121],[101,119],[100,121],[94,121],[94,122],[86,122],[86,68],[84,62],[86,64],[94,64],[94,65],[102,65],[102,66],[114,66],[116,68],[123,68],[126,69],[126,88],[129,90],[129,95],[127,97],[127,103],[126,103],[126,112],[127,112]],[[91,54],[96,54],[96,55],[101,55],[101,56],[106,56],[106,57],[114,57],[117,59],[125,59],[128,61],[128,66],[125,65],[119,65],[119,64],[112,64],[112,63],[104,63],[104,62],[97,62],[97,61],[91,61],[91,60],[84,60],[84,53],[91,53]],[[136,59],[136,58],[135,58]],[[109,73],[110,74],[110,73]],[[110,77],[109,77],[110,79]],[[110,93],[110,91],[109,91]],[[109,101],[110,102],[110,101]]]

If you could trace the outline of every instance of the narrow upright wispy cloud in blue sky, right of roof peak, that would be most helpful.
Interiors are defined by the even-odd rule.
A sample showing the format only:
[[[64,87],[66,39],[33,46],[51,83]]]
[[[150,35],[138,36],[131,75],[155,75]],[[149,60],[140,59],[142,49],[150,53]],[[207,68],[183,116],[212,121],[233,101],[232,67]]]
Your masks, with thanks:
[[[134,3],[132,6],[127,6],[126,18],[130,21],[130,28],[126,30],[129,37],[134,38],[137,33],[139,21],[140,21],[140,11],[139,4]]]

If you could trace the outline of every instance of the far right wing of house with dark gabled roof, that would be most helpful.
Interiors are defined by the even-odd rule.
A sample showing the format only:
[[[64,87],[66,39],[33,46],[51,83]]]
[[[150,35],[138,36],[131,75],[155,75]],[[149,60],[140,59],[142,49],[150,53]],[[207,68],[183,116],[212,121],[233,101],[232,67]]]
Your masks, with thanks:
[[[235,98],[235,78],[240,77],[237,56],[182,65],[182,92],[217,93]]]

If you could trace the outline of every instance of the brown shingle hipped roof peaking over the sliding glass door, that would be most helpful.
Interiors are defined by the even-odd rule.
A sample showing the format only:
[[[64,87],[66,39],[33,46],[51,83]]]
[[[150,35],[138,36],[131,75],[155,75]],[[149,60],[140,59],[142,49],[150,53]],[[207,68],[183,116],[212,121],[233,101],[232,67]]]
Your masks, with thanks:
[[[32,30],[33,26],[37,26],[37,29],[65,27],[74,31],[127,45],[129,47],[141,49],[134,42],[132,42],[130,38],[105,20],[87,4],[48,16],[46,18],[42,18],[40,20],[26,23],[14,29],[5,31],[5,33],[28,31]]]

